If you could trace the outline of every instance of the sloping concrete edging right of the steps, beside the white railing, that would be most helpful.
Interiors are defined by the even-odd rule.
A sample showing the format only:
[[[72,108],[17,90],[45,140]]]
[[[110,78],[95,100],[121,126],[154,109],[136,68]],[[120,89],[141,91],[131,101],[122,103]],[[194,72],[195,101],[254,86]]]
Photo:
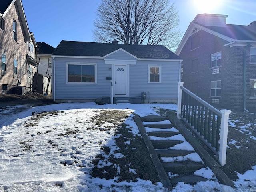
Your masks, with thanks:
[[[192,145],[196,152],[200,155],[202,160],[209,166],[209,168],[214,172],[216,178],[224,185],[231,186],[234,188],[234,182],[228,178],[228,176],[221,169],[221,166],[210,156],[210,154],[202,147],[202,145],[196,140],[196,138],[191,134],[191,132],[178,120],[177,118],[171,119],[170,122],[174,125],[176,129],[180,131],[182,136]]]

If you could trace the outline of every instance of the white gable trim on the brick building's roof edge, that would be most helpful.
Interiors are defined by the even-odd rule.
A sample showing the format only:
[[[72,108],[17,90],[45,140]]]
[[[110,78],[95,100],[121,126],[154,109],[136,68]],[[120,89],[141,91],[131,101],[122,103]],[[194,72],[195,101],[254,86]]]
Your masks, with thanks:
[[[206,28],[206,27],[204,27],[204,26],[202,26],[202,25],[200,25],[200,24],[197,24],[197,23],[195,23],[195,22],[190,22],[190,24],[189,24],[189,26],[188,26],[188,29],[186,30],[186,32],[185,32],[185,34],[184,34],[182,40],[180,41],[180,44],[179,44],[178,48],[177,48],[176,51],[175,51],[175,54],[177,54],[177,55],[180,54],[180,52],[181,52],[182,48],[184,47],[185,43],[187,42],[188,38],[193,34],[192,32],[193,32],[193,30],[194,30],[195,27],[198,28],[198,29],[200,29],[200,30],[204,30],[205,32],[208,32],[208,33],[210,33],[210,34],[212,34],[212,35],[214,35],[214,36],[217,36],[217,37],[219,37],[219,38],[222,38],[222,39],[224,39],[224,40],[226,40],[226,41],[228,41],[228,42],[232,42],[232,41],[235,40],[235,39],[233,39],[233,38],[230,38],[230,37],[228,37],[228,36],[225,36],[225,35],[222,35],[222,34],[220,34],[220,33],[218,33],[218,32],[215,32],[215,31],[213,31],[213,30],[210,30],[210,29],[208,29],[208,28]]]

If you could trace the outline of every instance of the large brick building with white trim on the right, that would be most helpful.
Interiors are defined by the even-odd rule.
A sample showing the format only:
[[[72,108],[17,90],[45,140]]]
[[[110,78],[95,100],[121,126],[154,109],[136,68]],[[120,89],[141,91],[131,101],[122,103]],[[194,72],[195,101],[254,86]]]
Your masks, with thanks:
[[[227,15],[199,14],[176,54],[182,82],[216,108],[256,111],[256,22],[226,24]]]

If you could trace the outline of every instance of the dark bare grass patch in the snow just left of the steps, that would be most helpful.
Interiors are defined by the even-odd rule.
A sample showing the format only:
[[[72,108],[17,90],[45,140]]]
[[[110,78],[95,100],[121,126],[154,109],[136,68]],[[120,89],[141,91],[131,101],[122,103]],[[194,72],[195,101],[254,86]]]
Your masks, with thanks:
[[[112,113],[114,116],[110,115]],[[122,158],[115,158],[114,154],[110,154],[110,148],[102,146],[103,155],[97,155],[92,161],[94,168],[90,172],[90,175],[106,178],[107,180],[116,177],[116,182],[136,182],[137,178],[151,180],[153,184],[160,182],[142,137],[138,135],[134,136],[129,132],[131,129],[128,128],[128,125],[123,122],[127,117],[126,112],[106,110],[102,111],[99,116],[94,118],[98,126],[101,126],[105,122],[112,122],[118,125],[119,128],[116,129],[115,135],[119,135],[119,137],[114,140],[119,150],[114,151],[114,153],[120,153],[124,156]],[[130,145],[125,143],[127,141],[130,141]],[[110,162],[111,165],[98,168],[97,165],[102,161]],[[137,174],[131,172],[130,169],[135,170]]]

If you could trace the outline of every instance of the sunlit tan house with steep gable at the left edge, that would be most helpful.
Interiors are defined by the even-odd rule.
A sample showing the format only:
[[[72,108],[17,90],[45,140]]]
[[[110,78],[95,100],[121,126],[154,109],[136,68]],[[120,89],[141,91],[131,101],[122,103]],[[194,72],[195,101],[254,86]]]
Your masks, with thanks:
[[[0,2],[0,94],[32,91],[35,72],[34,34],[29,31],[21,0]],[[18,90],[18,89],[15,89]],[[20,92],[19,92],[20,93]]]

